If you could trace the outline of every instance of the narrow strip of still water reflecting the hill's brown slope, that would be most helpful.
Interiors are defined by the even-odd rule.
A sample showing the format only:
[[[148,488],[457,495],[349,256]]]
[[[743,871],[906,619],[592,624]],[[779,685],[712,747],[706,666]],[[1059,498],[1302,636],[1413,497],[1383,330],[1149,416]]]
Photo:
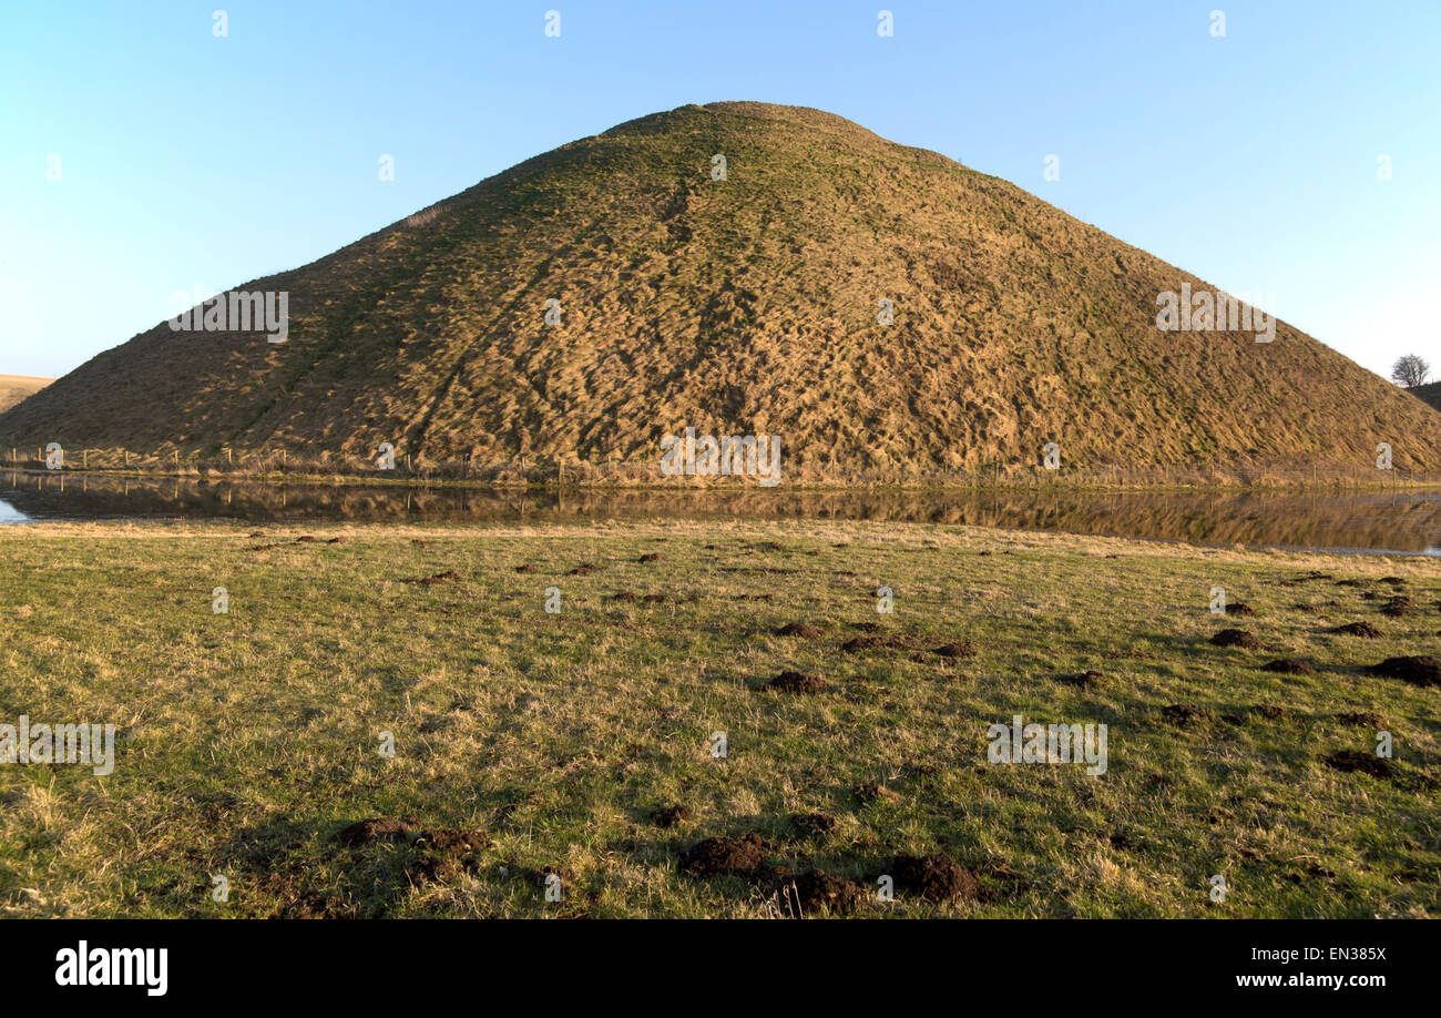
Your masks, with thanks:
[[[9,474],[32,518],[229,518],[246,522],[579,522],[604,519],[865,519],[1069,531],[1196,544],[1441,548],[1441,493],[483,492]],[[3,490],[9,489],[9,490]]]

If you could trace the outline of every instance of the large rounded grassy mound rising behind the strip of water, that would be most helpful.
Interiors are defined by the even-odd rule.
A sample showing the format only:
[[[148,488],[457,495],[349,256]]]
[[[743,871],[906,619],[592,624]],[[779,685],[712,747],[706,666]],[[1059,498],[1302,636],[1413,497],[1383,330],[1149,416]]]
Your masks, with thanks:
[[[723,153],[728,179],[710,179]],[[682,107],[537,156],[326,258],[290,342],[166,323],[0,443],[643,464],[778,434],[788,479],[1242,460],[1441,469],[1441,414],[1281,324],[1163,333],[1200,280],[996,177],[814,110]],[[562,324],[543,320],[562,301]],[[880,298],[895,324],[878,323]]]

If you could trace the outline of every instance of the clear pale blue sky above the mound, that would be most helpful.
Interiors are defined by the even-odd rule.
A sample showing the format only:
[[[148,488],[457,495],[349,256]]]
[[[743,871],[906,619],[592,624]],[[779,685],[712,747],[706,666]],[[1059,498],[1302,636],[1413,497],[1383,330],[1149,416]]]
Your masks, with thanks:
[[[1378,373],[1441,368],[1438,0],[0,0],[0,373],[716,99],[829,110],[1271,293]]]

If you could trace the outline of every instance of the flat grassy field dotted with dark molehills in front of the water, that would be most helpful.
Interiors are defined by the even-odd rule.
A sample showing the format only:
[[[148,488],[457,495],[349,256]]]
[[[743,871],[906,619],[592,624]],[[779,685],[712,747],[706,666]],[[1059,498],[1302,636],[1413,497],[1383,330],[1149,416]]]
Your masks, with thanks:
[[[1438,908],[1441,691],[1363,669],[1435,653],[1432,561],[818,521],[249,534],[0,532],[0,721],[120,730],[110,776],[0,766],[7,914],[768,916],[777,869],[873,888],[898,852],[947,852],[980,897],[857,914]],[[1255,616],[1210,614],[1215,585]],[[1412,610],[1386,617],[1396,590]],[[774,633],[790,621],[821,634]],[[1347,621],[1383,637],[1327,632]],[[857,623],[906,646],[844,653]],[[1262,647],[1212,646],[1225,626]],[[976,656],[931,652],[960,640]],[[1280,656],[1317,672],[1259,670]],[[830,689],[755,689],[782,669]],[[1059,681],[1088,669],[1105,678]],[[1206,714],[1176,724],[1174,704]],[[1392,777],[1323,763],[1375,748],[1375,720],[1337,717],[1355,712],[1392,734]],[[1014,714],[1107,724],[1108,771],[987,764],[987,725]],[[689,818],[660,826],[677,805]],[[363,818],[488,844],[336,838]],[[768,877],[677,867],[751,832]]]

